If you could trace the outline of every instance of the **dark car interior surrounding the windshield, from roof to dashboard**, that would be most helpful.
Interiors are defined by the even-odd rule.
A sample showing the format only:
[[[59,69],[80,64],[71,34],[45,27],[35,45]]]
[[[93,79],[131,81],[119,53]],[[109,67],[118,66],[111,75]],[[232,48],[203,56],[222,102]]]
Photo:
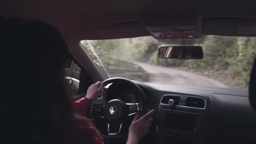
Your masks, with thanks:
[[[140,144],[256,144],[256,61],[249,88],[244,90],[144,83],[106,77],[80,43],[144,36],[256,37],[254,7],[252,0],[3,0],[0,16],[42,21],[58,29],[74,58],[74,67],[80,69],[66,77],[75,99],[82,98],[97,81],[108,84],[84,115],[99,129],[106,144],[125,143],[136,112],[145,114],[152,109],[156,111],[152,126]],[[166,28],[182,32],[170,37]],[[186,32],[189,34],[181,35]],[[163,57],[171,58],[166,53],[170,47],[161,48]],[[186,53],[189,48],[193,47],[184,48]],[[203,59],[202,48],[196,48],[200,55],[192,53],[192,57]],[[173,59],[189,59],[183,56]],[[128,100],[129,93],[133,93],[133,100]],[[117,96],[123,97],[120,100]],[[112,115],[113,107],[120,109],[120,114]]]

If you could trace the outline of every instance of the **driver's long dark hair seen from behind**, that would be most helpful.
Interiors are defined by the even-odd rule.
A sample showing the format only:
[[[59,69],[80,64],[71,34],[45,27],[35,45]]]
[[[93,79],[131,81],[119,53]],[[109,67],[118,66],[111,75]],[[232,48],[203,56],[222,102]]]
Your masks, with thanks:
[[[72,101],[64,80],[69,52],[61,34],[43,22],[5,19],[0,35],[5,133],[20,142],[70,143]]]

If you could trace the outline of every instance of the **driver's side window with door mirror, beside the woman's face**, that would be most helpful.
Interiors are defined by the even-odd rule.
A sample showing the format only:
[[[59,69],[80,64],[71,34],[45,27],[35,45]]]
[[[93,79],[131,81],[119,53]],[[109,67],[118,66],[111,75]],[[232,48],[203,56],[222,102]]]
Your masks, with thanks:
[[[75,100],[79,99],[79,83],[80,83],[81,68],[72,61],[69,68],[66,69],[66,80],[70,85],[70,90]]]

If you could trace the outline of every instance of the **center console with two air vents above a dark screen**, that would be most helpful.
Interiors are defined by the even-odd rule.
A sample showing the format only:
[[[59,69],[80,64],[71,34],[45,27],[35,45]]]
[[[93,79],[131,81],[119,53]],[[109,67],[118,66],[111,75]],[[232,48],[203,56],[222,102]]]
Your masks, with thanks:
[[[159,143],[165,144],[168,138],[196,139],[205,107],[206,100],[200,96],[163,95],[156,129]]]

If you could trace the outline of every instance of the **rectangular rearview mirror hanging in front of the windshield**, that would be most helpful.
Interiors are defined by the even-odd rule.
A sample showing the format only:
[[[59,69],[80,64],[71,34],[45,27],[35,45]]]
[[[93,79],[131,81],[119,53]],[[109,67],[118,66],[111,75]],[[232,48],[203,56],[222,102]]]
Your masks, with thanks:
[[[203,59],[201,46],[161,46],[158,57],[164,59]]]

